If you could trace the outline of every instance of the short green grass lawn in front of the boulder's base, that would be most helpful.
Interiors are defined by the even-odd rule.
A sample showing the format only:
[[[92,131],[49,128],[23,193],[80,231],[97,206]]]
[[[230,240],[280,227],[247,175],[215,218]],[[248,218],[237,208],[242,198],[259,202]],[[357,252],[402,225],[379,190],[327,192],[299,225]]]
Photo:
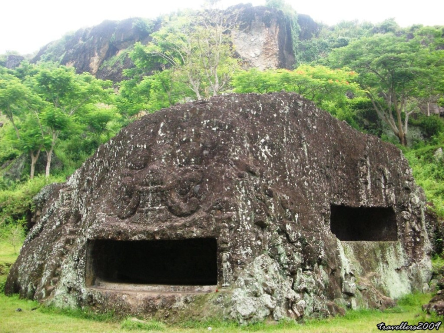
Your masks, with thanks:
[[[16,258],[11,246],[0,242],[0,282],[4,283],[5,270]],[[6,269],[5,269],[6,268]],[[380,332],[376,325],[384,322],[386,325],[398,325],[409,322],[410,325],[420,321],[438,321],[438,318],[426,316],[421,306],[429,302],[432,295],[408,295],[398,302],[398,306],[386,311],[360,310],[348,311],[344,317],[323,320],[309,320],[299,324],[294,321],[280,323],[258,323],[249,326],[239,326],[235,323],[209,321],[188,322],[180,326],[167,326],[158,322],[137,323],[128,319],[122,320],[107,315],[95,315],[83,310],[59,310],[44,307],[35,301],[19,299],[17,295],[6,297],[0,294],[0,332]],[[17,311],[21,309],[21,311]],[[434,330],[435,331],[435,330]],[[440,327],[440,331],[444,328]]]

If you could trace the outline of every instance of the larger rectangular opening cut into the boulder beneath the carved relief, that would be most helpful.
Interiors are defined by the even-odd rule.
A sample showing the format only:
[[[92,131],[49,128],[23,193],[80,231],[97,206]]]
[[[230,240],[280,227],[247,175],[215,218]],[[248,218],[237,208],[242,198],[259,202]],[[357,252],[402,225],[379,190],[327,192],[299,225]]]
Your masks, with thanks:
[[[215,238],[88,241],[86,284],[214,286],[218,283]]]

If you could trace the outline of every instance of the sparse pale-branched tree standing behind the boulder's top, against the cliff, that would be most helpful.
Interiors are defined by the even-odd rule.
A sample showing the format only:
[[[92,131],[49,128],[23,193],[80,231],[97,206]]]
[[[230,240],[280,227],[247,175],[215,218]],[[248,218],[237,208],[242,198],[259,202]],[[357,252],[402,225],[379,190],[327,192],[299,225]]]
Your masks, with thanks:
[[[185,83],[198,100],[216,96],[238,67],[229,34],[236,17],[214,8],[170,17],[148,45],[136,44],[130,57],[145,72],[169,69],[170,78]]]

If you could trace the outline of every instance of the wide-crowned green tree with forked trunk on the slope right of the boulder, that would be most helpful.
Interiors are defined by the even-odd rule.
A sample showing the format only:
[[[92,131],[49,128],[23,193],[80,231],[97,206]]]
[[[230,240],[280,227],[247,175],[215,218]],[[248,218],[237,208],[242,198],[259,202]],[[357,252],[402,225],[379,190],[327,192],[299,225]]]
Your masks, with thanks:
[[[359,73],[355,81],[406,146],[409,116],[418,109],[422,82],[438,85],[443,59],[443,51],[431,49],[419,38],[377,34],[333,50],[328,60],[331,66],[347,66]]]

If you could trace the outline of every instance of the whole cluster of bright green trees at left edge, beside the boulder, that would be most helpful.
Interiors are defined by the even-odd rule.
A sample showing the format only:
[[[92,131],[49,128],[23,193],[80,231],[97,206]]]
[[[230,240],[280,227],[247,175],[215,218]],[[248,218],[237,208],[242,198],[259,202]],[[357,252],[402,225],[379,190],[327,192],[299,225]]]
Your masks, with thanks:
[[[15,71],[0,70],[0,111],[8,120],[0,129],[1,164],[25,155],[32,178],[38,157],[45,152],[45,174],[49,176],[55,153],[66,166],[58,173],[72,172],[122,126],[119,113],[111,106],[111,85],[52,63],[23,63]],[[69,156],[70,152],[57,149],[74,137],[86,151],[76,149]],[[4,187],[5,181],[2,184]]]

